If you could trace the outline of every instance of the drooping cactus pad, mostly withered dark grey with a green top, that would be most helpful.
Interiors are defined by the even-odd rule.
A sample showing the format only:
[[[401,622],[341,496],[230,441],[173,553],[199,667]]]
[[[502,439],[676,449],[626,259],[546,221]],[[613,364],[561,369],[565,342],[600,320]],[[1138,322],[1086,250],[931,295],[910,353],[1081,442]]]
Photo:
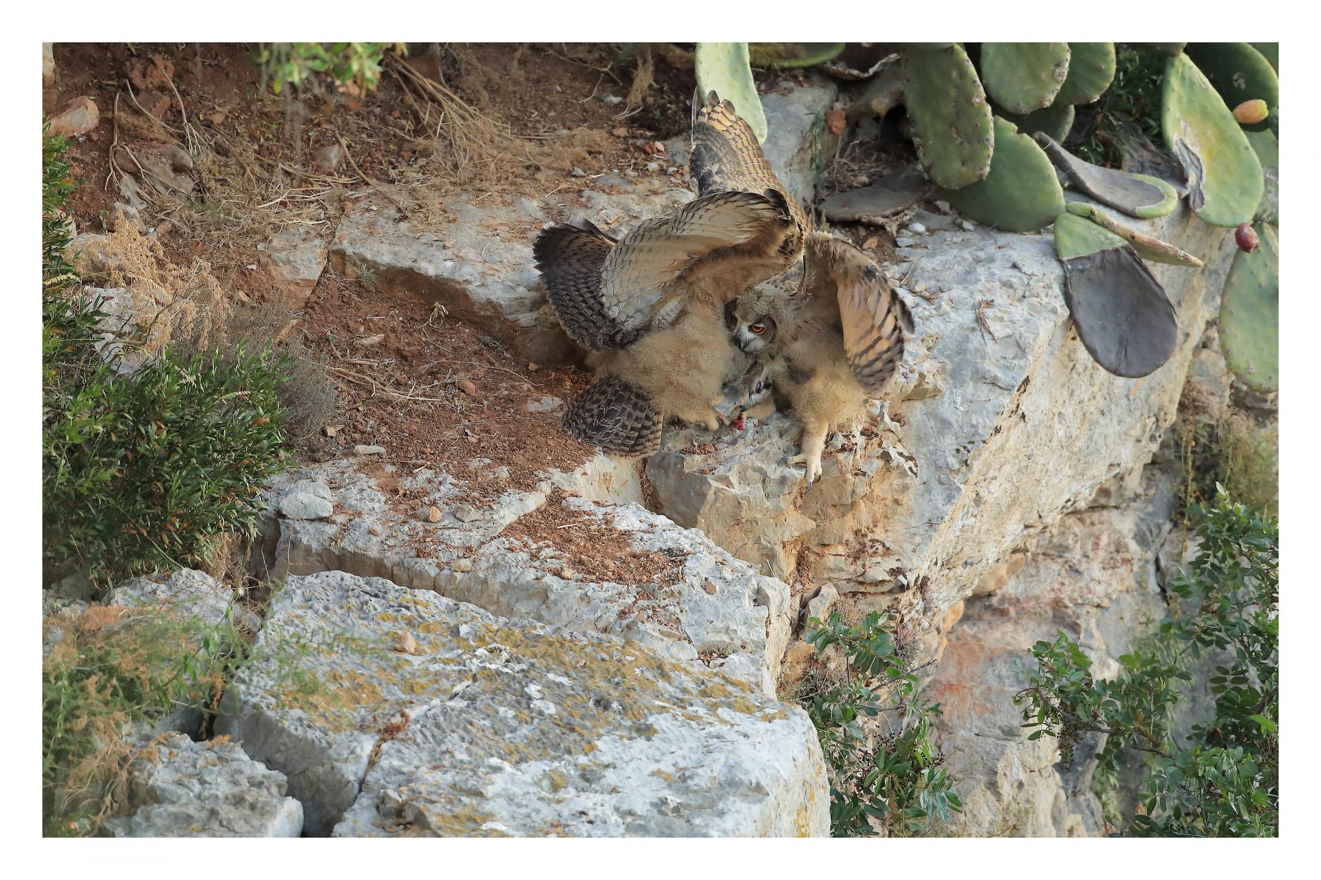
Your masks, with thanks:
[[[1087,354],[1116,376],[1156,372],[1174,354],[1178,318],[1128,243],[1091,220],[1055,220],[1055,253],[1065,264],[1065,303]]]

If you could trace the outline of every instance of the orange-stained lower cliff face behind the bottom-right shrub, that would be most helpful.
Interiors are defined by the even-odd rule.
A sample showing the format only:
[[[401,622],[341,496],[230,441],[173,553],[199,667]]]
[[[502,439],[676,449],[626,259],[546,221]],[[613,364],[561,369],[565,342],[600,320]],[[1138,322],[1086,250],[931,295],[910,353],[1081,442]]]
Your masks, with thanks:
[[[1135,497],[1063,516],[1028,541],[951,610],[950,629],[926,695],[964,813],[954,822],[971,836],[1099,836],[1100,802],[1091,792],[1099,734],[1085,736],[1073,764],[1058,743],[1028,741],[1013,697],[1025,685],[1020,664],[1038,640],[1059,631],[1077,639],[1098,678],[1119,673],[1118,658],[1166,613],[1157,555],[1177,504],[1177,483],[1147,468]],[[1168,574],[1168,573],[1166,573]]]

